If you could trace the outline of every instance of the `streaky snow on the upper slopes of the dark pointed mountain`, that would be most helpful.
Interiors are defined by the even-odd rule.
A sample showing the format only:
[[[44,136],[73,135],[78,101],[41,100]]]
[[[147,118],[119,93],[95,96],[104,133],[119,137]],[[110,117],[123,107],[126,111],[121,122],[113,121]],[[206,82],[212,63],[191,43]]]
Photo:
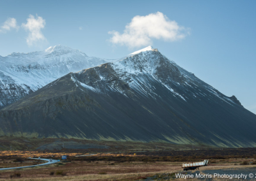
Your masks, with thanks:
[[[127,86],[143,96],[150,96],[152,98],[159,96],[154,93],[156,88],[154,86],[152,87],[152,85],[148,83],[151,80],[154,80],[160,82],[165,89],[172,92],[173,96],[180,98],[183,101],[188,99],[186,97],[188,95],[191,95],[191,98],[194,99],[211,96],[212,98],[225,101],[230,105],[236,104],[242,106],[235,96],[228,97],[221,94],[221,92],[214,89],[214,87],[203,82],[193,75],[193,73],[181,68],[175,62],[158,52],[157,48],[152,48],[151,46],[133,52],[132,54],[111,62],[110,64],[111,68],[115,72],[113,73],[113,76],[117,76],[120,80],[127,83]],[[79,71],[77,74],[79,75],[85,71],[87,70]],[[107,93],[106,90],[125,92],[115,86],[116,82],[102,87],[99,82],[112,81],[106,80],[105,75],[101,75],[100,71],[96,72],[100,79],[96,78],[94,80],[90,77],[90,82],[84,82],[86,84],[80,82],[79,84],[95,92],[100,92],[99,90],[104,91],[104,93]],[[92,80],[94,81],[93,85]],[[196,92],[191,91],[191,89],[196,90]],[[201,89],[205,89],[207,92],[203,93]]]

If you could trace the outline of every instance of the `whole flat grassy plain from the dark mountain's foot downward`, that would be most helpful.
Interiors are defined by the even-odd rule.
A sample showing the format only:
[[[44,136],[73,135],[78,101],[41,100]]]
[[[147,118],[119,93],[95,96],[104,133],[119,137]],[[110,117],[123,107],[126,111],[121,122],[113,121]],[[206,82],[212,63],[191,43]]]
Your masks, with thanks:
[[[67,139],[53,138],[3,137],[0,141],[3,148],[0,150],[0,168],[38,164],[28,157],[68,157],[67,162],[48,166],[0,171],[0,180],[161,180],[164,175],[167,180],[184,180],[173,177],[177,172],[184,173],[182,163],[209,159],[209,166],[200,168],[202,172],[228,168],[252,169],[256,164],[256,148],[212,148],[169,143],[74,139],[71,139],[73,145],[68,145]],[[70,148],[62,148],[63,143]],[[72,148],[76,146],[74,143],[79,148]],[[8,151],[10,145],[12,151]],[[80,148],[81,145],[90,148]],[[84,156],[86,154],[95,155]]]

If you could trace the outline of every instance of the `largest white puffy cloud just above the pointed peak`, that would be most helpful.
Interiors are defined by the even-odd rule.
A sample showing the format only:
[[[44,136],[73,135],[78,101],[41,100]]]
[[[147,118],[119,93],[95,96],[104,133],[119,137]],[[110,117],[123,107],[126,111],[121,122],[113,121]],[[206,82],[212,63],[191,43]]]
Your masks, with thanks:
[[[123,34],[110,31],[113,36],[111,43],[125,45],[127,47],[141,47],[152,44],[152,38],[164,41],[177,41],[189,34],[189,29],[169,20],[161,12],[151,13],[147,16],[133,17],[131,22],[125,26]]]

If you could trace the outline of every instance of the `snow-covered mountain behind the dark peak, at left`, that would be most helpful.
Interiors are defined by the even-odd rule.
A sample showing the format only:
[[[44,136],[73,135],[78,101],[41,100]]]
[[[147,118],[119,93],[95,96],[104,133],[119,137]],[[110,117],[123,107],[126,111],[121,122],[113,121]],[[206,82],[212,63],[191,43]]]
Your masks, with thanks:
[[[42,52],[0,56],[0,108],[31,94],[71,71],[106,62],[79,50],[56,45]]]

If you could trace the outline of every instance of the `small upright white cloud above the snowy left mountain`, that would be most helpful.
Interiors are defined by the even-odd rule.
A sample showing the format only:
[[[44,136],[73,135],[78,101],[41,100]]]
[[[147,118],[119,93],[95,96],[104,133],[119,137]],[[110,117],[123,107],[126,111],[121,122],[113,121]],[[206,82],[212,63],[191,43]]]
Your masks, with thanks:
[[[22,24],[22,27],[26,31],[29,31],[28,37],[26,38],[29,46],[35,45],[35,43],[38,42],[47,41],[41,31],[41,29],[44,29],[45,27],[45,20],[42,17],[38,17],[38,15],[36,15],[35,18],[33,15],[29,15],[27,23]]]

